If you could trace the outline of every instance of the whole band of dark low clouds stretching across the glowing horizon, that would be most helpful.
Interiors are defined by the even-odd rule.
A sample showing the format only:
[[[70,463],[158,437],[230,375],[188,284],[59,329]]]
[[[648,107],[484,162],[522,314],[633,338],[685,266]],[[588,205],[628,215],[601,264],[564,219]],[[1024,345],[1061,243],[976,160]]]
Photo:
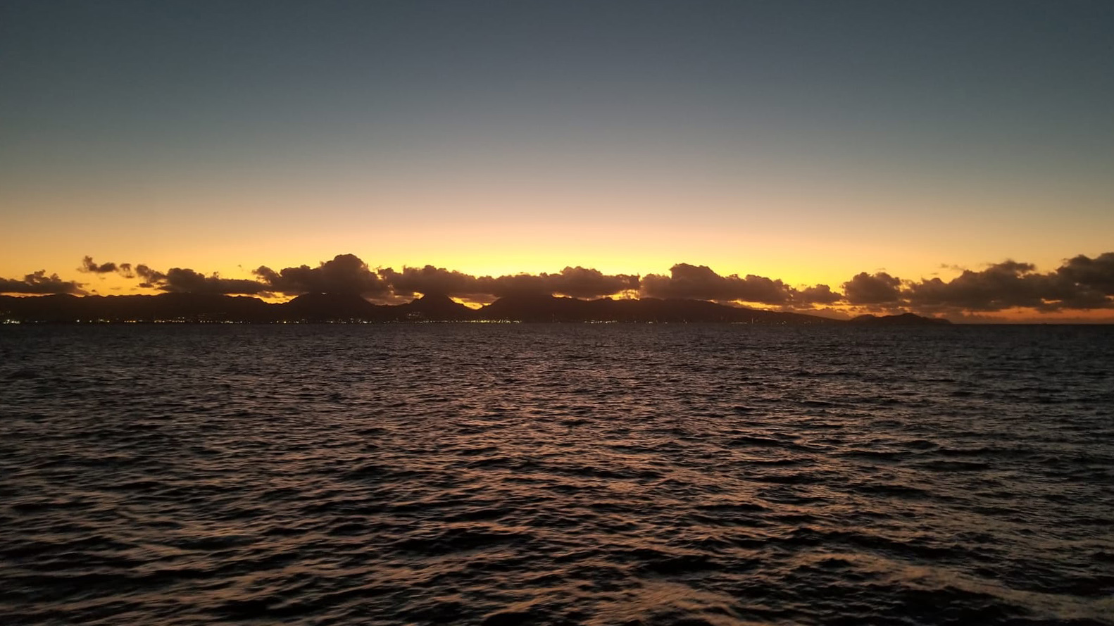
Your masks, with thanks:
[[[472,302],[509,295],[565,295],[578,299],[609,296],[711,300],[761,304],[785,311],[817,312],[843,306],[852,311],[908,310],[922,314],[965,316],[1013,309],[1039,312],[1114,309],[1114,252],[1091,258],[1078,255],[1052,272],[1030,263],[1004,261],[985,270],[964,270],[949,281],[902,280],[887,272],[856,274],[834,291],[829,285],[791,286],[781,280],[746,274],[721,275],[706,265],[678,263],[666,274],[604,274],[567,266],[559,273],[475,276],[434,267],[371,268],[354,254],[339,254],[315,267],[272,270],[261,265],[255,278],[225,278],[188,267],[157,271],[145,264],[96,263],[91,256],[78,268],[87,274],[118,274],[138,285],[175,293],[229,295],[356,294],[375,302],[399,302],[418,294],[443,294]],[[39,295],[87,292],[84,283],[63,281],[45,270],[23,278],[0,278],[0,293]],[[830,310],[830,309],[829,309]]]

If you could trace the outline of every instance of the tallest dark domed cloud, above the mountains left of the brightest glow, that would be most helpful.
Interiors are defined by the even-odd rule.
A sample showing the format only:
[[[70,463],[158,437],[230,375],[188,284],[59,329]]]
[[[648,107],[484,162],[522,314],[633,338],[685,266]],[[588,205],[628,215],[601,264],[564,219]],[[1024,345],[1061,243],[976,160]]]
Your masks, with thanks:
[[[316,267],[302,265],[275,272],[260,266],[253,272],[267,287],[277,293],[349,293],[383,299],[391,295],[390,285],[354,254],[338,254]]]

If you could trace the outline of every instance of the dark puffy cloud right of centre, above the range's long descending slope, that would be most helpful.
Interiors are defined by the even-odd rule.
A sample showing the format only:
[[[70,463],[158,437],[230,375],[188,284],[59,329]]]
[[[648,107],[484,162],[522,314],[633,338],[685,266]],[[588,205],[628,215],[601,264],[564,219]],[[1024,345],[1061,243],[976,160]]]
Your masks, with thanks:
[[[742,278],[736,274],[721,276],[706,265],[678,263],[670,268],[668,276],[661,274],[644,276],[641,293],[643,296],[662,299],[786,304],[793,300],[795,290],[780,280],[774,281],[753,274]]]

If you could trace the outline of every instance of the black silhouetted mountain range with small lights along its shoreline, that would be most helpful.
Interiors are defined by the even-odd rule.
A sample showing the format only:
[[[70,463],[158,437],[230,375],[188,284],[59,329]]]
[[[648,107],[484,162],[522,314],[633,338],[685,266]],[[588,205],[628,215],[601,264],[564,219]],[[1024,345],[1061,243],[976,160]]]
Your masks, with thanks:
[[[446,295],[428,294],[397,305],[372,304],[352,294],[314,293],[271,304],[250,296],[164,293],[108,296],[0,296],[0,320],[18,322],[749,322],[758,324],[846,324],[839,320],[758,311],[700,300],[577,300],[514,295],[472,310]],[[856,324],[948,323],[911,313]]]

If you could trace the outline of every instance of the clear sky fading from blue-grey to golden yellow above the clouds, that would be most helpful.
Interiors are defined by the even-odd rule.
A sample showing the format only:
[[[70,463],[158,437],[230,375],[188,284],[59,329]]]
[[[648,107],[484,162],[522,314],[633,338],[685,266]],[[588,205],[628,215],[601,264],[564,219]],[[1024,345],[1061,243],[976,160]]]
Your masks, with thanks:
[[[1114,320],[1111,111],[1105,0],[6,0],[0,290],[353,255]]]

